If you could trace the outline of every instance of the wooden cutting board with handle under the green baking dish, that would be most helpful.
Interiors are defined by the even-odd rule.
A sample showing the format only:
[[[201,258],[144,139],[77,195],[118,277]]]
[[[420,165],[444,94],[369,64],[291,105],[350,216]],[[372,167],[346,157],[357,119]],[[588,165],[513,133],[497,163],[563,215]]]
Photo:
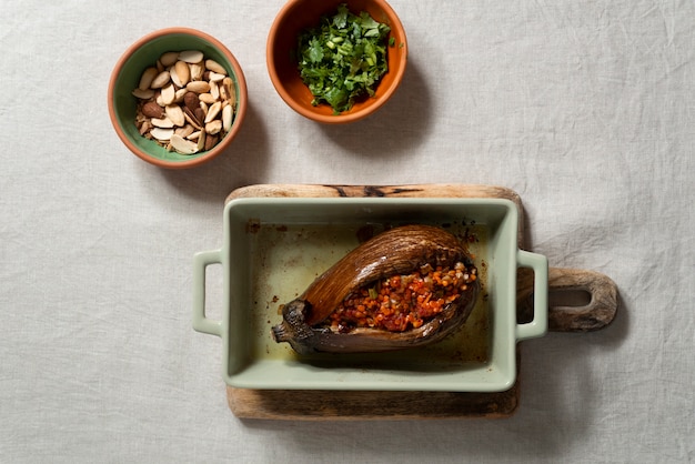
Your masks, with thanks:
[[[520,210],[518,248],[525,246],[525,221],[521,198],[510,189],[472,184],[420,185],[309,185],[258,184],[234,190],[226,201],[238,198],[501,198],[513,201]],[[607,276],[593,271],[551,268],[548,290],[560,304],[548,307],[548,329],[558,332],[587,332],[608,325],[617,311],[617,289]],[[517,273],[520,322],[530,321],[533,273]],[[580,305],[561,305],[584,295]],[[553,299],[551,300],[553,301]],[[551,303],[552,304],[552,303]],[[517,370],[521,349],[517,344]],[[517,372],[518,374],[518,372]],[[454,417],[508,417],[520,404],[520,383],[498,393],[462,392],[382,392],[382,391],[304,391],[250,390],[226,387],[232,413],[240,418],[265,420],[405,420]]]

